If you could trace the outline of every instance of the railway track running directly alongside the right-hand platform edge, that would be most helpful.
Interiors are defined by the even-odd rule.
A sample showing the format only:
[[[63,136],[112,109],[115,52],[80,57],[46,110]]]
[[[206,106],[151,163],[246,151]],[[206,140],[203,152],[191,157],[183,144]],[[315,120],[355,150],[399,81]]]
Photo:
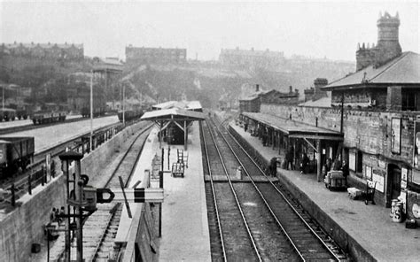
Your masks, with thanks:
[[[242,166],[247,175],[246,179],[250,181],[235,184],[238,192],[246,190],[246,194],[242,196],[243,205],[265,206],[265,211],[262,209],[260,211],[260,217],[252,216],[253,212],[250,212],[251,216],[248,219],[254,227],[252,232],[256,235],[256,245],[261,251],[263,260],[342,261],[347,259],[338,245],[299,206],[299,201],[291,199],[278,182],[271,181],[226,129],[220,130],[214,122],[211,123],[210,129],[217,132],[214,137],[217,137],[218,143],[222,144],[223,158],[234,165]],[[206,136],[206,132],[203,131],[203,133],[203,136]],[[231,160],[232,157],[227,157],[229,154],[235,156],[237,163]],[[264,182],[261,182],[261,178]],[[237,185],[242,185],[242,189]],[[259,222],[260,226],[258,226]]]

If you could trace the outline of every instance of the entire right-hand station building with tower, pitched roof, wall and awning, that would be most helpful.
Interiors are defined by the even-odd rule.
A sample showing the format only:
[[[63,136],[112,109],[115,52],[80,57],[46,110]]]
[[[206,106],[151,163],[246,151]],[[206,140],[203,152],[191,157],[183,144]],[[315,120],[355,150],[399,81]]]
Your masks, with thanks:
[[[320,88],[331,96],[319,106],[261,103],[240,118],[280,156],[293,144],[298,164],[297,152],[307,152],[318,175],[326,158],[345,159],[350,187],[376,182],[377,204],[398,197],[408,219],[420,219],[420,55],[401,52],[399,25],[398,14],[379,16],[377,45],[362,44],[356,72]]]

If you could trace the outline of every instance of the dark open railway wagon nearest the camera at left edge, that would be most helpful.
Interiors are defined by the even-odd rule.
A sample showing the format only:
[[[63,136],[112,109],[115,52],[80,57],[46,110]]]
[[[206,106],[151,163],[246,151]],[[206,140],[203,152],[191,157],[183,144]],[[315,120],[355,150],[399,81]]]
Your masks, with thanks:
[[[27,169],[34,158],[35,139],[33,136],[0,137],[0,179]]]

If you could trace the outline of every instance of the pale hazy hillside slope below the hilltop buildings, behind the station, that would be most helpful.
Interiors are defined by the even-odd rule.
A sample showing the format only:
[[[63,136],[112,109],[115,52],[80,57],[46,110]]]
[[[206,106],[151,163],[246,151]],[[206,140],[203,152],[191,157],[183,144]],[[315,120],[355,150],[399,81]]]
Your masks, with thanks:
[[[237,100],[244,86],[260,84],[263,89],[288,92],[313,86],[317,77],[333,81],[354,70],[354,64],[330,60],[291,60],[276,71],[223,68],[217,64],[192,61],[186,65],[137,65],[126,67],[121,81],[156,101],[199,100],[203,107],[216,107],[219,99]],[[250,92],[249,88],[246,89]],[[253,89],[251,89],[253,90]]]

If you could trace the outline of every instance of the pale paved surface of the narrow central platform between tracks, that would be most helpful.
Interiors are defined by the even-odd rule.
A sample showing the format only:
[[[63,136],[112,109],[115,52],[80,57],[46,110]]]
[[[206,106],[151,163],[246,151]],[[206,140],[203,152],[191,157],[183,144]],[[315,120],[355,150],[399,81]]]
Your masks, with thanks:
[[[166,143],[162,145],[167,149]],[[176,149],[183,146],[170,147],[170,163],[175,163]],[[193,123],[189,134],[188,154],[183,178],[170,173],[164,176],[159,261],[211,261],[198,122]],[[166,161],[164,166],[167,168]]]

